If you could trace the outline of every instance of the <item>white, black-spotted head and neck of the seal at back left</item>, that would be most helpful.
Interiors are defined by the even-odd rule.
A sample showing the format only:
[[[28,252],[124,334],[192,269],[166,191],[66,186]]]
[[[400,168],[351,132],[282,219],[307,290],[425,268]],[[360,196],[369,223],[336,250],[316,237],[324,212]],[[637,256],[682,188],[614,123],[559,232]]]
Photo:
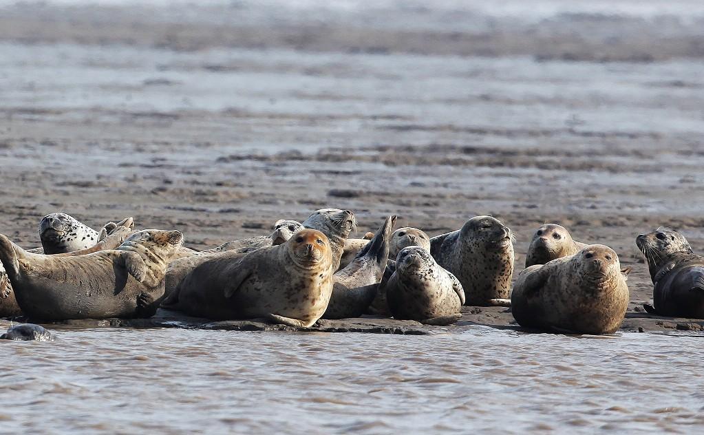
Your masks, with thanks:
[[[66,213],[51,213],[39,222],[39,239],[46,254],[66,253],[90,248],[99,233]]]

